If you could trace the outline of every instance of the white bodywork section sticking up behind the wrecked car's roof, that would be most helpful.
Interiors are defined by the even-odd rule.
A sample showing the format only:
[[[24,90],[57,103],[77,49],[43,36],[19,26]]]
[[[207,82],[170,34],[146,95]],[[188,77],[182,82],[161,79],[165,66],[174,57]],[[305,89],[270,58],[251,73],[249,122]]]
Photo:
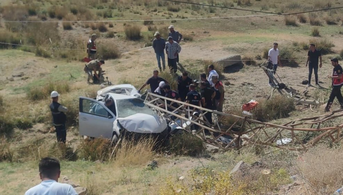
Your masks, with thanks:
[[[105,96],[108,93],[123,94],[123,95],[138,97],[138,98],[141,97],[141,94],[138,93],[138,90],[133,85],[121,84],[121,85],[108,86],[108,87],[98,90],[96,99],[104,100]]]

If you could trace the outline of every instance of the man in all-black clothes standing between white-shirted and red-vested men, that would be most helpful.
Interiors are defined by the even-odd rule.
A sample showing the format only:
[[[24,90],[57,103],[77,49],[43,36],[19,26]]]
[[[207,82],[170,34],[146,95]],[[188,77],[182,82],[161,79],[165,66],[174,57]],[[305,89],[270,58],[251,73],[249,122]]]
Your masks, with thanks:
[[[308,87],[311,86],[311,77],[312,77],[312,70],[315,70],[315,78],[316,78],[316,85],[318,84],[318,58],[320,59],[320,64],[319,64],[319,68],[322,67],[322,58],[321,58],[321,53],[319,50],[316,49],[315,44],[310,44],[310,50],[308,51],[307,54],[307,61],[306,61],[306,67],[308,62]]]

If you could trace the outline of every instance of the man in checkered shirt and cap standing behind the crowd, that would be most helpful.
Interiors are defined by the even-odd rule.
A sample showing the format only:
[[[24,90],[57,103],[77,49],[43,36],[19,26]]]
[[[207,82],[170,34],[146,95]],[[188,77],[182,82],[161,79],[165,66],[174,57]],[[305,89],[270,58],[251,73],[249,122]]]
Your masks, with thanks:
[[[168,42],[166,43],[166,53],[168,57],[168,66],[171,72],[174,74],[177,71],[177,55],[180,53],[181,47],[180,45],[173,40],[173,37],[168,37]]]

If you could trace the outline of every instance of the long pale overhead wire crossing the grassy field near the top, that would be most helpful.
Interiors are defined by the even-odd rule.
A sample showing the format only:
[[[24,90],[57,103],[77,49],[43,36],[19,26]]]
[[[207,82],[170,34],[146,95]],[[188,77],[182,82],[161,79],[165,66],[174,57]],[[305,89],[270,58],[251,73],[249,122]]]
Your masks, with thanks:
[[[256,16],[271,16],[277,14],[260,14],[260,15],[237,15],[237,16],[221,16],[221,17],[195,17],[195,18],[176,18],[176,19],[150,19],[150,20],[90,20],[90,21],[9,21],[4,20],[2,22],[22,22],[22,23],[67,23],[67,22],[144,22],[144,21],[173,21],[173,20],[205,20],[205,19],[227,19],[227,18],[237,18],[237,17],[256,17]]]

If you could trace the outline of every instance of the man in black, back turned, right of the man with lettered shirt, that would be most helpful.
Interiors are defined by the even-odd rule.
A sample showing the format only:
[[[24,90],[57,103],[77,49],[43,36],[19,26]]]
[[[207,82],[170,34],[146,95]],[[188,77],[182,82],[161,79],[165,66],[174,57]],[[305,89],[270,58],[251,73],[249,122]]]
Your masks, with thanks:
[[[213,98],[215,97],[215,92],[213,89],[206,87],[205,82],[200,83],[200,89],[201,89],[201,104],[203,108],[207,108],[210,110],[213,110]],[[210,124],[213,124],[212,122],[212,112],[208,112],[204,115],[204,118],[206,118]]]

